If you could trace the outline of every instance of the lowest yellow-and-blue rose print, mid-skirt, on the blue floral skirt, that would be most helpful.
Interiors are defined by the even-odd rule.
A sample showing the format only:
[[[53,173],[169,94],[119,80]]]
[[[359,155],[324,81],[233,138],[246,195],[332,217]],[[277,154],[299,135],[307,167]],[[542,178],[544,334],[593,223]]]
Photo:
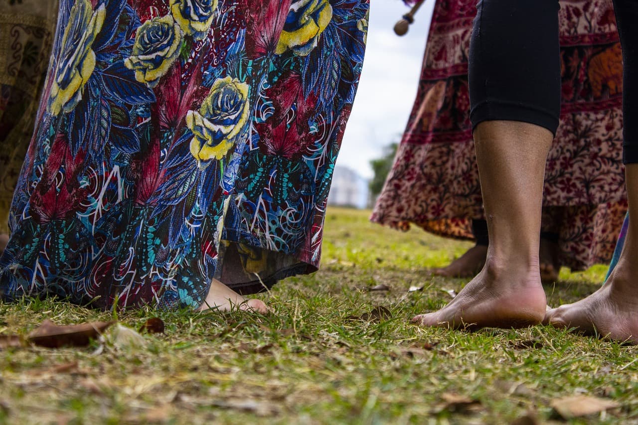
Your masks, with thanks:
[[[231,77],[216,80],[200,110],[188,111],[186,126],[194,135],[190,150],[200,167],[230,151],[248,122],[248,111],[248,84]]]

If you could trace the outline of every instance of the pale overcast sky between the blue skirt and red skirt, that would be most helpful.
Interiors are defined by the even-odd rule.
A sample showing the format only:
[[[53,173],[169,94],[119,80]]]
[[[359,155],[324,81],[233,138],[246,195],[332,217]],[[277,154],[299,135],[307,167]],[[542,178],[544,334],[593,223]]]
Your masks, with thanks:
[[[337,164],[371,177],[369,161],[398,140],[417,91],[434,0],[427,0],[403,37],[392,28],[408,8],[401,0],[371,0],[366,59]]]

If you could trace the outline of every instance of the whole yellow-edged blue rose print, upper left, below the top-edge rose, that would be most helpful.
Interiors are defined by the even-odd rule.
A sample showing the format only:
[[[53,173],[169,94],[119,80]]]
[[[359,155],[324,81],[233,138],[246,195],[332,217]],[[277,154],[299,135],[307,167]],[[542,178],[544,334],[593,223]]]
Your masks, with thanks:
[[[179,56],[182,32],[172,16],[147,20],[137,29],[133,54],[124,61],[135,79],[154,87]]]

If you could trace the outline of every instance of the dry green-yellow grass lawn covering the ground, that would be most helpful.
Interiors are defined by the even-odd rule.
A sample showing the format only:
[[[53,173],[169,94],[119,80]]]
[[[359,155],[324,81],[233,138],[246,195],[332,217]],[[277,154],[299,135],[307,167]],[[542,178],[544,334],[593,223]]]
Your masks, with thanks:
[[[463,287],[427,267],[470,244],[382,228],[368,214],[329,209],[322,270],[263,295],[275,314],[142,310],[118,319],[137,329],[159,315],[165,334],[144,344],[118,345],[107,332],[88,348],[0,350],[0,423],[507,423],[526,412],[553,421],[551,402],[574,394],[621,405],[575,423],[638,421],[637,347],[542,326],[470,333],[410,324]],[[590,294],[604,274],[604,266],[561,271],[549,304]],[[356,289],[380,284],[389,292]],[[408,292],[412,285],[425,288]],[[391,317],[352,319],[375,306]],[[26,334],[45,318],[111,314],[0,303],[0,334]],[[467,405],[445,401],[449,394]]]

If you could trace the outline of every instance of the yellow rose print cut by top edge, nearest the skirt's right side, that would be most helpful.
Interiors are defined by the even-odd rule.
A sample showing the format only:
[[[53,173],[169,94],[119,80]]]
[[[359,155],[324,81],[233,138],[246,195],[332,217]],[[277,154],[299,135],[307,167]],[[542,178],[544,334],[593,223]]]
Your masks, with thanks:
[[[293,1],[279,36],[276,54],[282,54],[290,48],[299,56],[308,56],[330,20],[332,6],[328,0]]]

